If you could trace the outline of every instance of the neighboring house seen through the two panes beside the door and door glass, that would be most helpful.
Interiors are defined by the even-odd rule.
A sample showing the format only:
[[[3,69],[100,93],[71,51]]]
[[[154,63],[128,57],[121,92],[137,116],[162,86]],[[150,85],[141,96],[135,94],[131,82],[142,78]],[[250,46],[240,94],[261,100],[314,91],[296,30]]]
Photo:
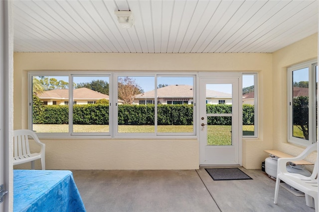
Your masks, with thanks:
[[[189,85],[170,85],[157,89],[158,103],[164,105],[193,104],[193,87]],[[231,104],[231,94],[206,90],[207,104]],[[135,96],[135,105],[155,103],[155,90]]]

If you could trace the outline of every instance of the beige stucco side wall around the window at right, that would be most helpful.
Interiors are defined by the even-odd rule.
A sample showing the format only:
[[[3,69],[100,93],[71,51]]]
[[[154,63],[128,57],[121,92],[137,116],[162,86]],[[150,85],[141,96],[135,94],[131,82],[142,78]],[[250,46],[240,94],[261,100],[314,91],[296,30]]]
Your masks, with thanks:
[[[293,156],[299,155],[305,147],[288,143],[287,133],[287,68],[318,57],[318,34],[314,34],[273,53],[273,149]],[[307,160],[315,162],[315,154]]]

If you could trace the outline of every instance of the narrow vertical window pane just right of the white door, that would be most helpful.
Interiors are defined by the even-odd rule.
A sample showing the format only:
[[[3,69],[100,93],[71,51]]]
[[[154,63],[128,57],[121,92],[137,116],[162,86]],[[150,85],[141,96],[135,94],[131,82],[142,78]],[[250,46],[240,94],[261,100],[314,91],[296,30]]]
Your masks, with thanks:
[[[255,135],[255,75],[243,75],[243,136]]]

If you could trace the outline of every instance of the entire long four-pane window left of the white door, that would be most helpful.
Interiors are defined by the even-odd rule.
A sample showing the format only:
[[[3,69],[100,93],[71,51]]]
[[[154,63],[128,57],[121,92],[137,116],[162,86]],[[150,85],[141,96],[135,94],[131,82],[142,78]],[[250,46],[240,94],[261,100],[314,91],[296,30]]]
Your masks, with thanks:
[[[40,136],[196,134],[196,75],[60,73],[29,73],[29,129]]]

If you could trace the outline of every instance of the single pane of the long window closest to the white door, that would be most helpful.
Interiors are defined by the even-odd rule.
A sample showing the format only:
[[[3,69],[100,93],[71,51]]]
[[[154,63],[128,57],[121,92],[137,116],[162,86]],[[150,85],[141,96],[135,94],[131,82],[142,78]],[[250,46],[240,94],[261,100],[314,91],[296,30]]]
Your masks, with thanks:
[[[158,132],[193,132],[193,77],[158,77]]]

